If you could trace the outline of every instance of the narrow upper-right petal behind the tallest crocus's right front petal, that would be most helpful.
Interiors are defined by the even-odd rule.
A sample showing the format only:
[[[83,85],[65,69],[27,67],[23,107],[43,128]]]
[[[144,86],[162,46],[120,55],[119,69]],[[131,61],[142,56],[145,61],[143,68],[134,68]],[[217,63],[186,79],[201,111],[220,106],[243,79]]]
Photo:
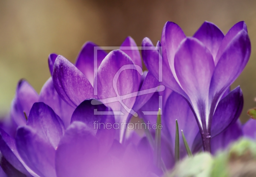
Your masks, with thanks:
[[[215,59],[215,65],[217,65],[218,61],[220,60],[221,55],[225,52],[225,50],[228,47],[228,45],[230,44],[230,42],[232,42],[232,40],[234,40],[236,35],[243,30],[246,33],[248,33],[247,26],[244,21],[240,21],[240,22],[236,23],[232,28],[229,29],[228,33],[225,35],[225,37],[223,38],[223,40],[221,42],[219,51],[218,51],[216,59]]]

